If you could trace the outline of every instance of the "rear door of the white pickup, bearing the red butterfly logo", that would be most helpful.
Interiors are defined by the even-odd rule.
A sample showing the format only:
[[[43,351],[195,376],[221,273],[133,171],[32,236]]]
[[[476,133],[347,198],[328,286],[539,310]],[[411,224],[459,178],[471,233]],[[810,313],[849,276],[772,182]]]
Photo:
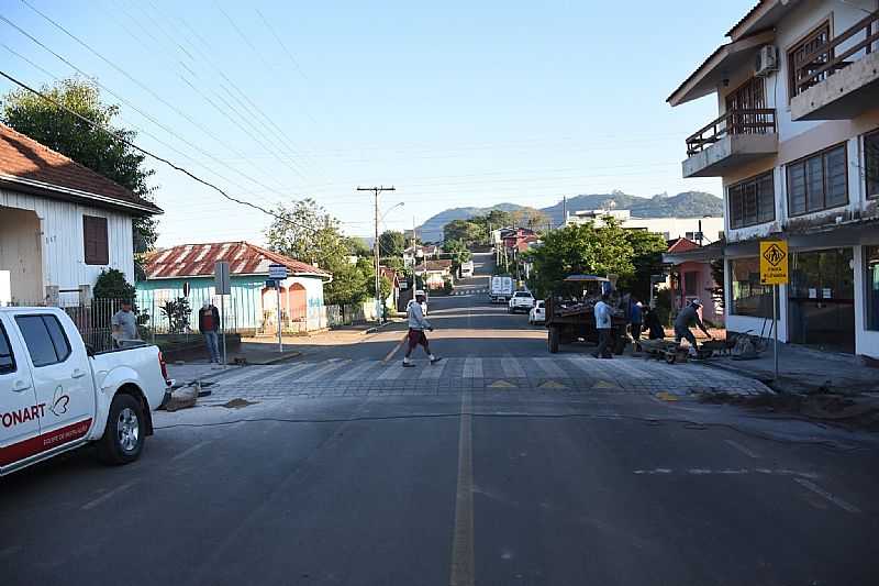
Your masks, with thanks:
[[[74,327],[69,320],[67,331]],[[94,413],[94,383],[86,345],[74,330],[52,313],[15,314],[15,324],[27,347],[36,399],[45,403],[40,420],[44,450],[75,442],[88,433]]]

